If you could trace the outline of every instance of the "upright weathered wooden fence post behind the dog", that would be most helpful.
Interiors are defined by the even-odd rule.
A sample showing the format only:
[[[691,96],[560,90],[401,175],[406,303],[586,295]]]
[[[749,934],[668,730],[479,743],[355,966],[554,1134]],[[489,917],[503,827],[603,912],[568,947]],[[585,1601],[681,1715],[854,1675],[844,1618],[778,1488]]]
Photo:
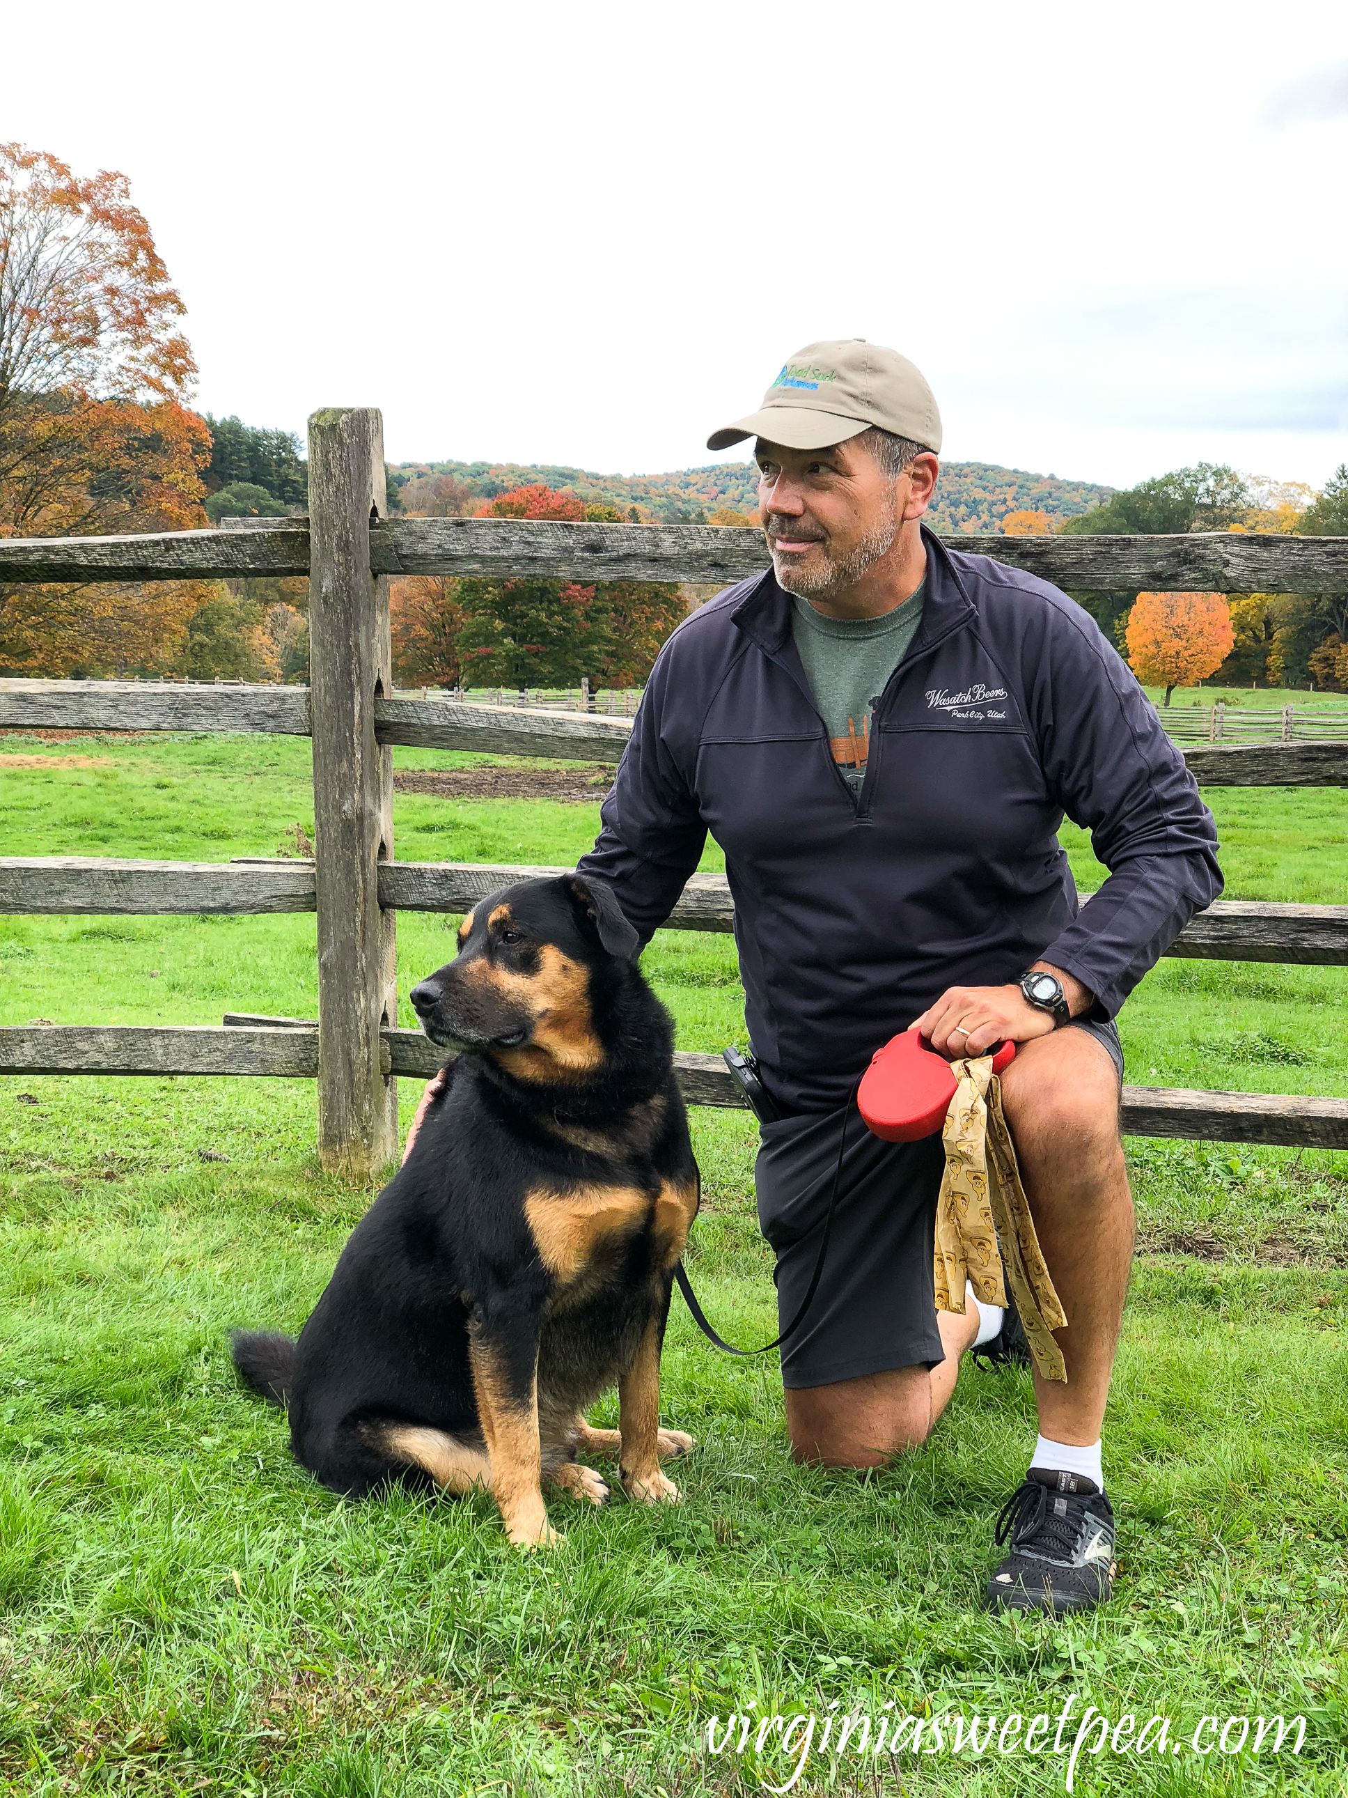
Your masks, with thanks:
[[[318,1158],[368,1179],[397,1153],[397,1082],[379,1039],[397,1023],[394,913],[377,867],[394,854],[392,750],[374,701],[392,692],[386,581],[370,574],[385,516],[383,421],[372,406],[309,419],[309,631],[318,895]]]

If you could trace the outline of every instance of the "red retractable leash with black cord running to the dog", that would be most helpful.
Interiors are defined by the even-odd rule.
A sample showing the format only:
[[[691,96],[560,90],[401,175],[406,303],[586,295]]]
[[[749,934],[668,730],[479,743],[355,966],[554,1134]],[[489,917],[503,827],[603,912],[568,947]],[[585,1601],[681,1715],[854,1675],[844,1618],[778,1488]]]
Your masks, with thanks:
[[[1003,1068],[1010,1066],[1014,1057],[1015,1045],[1003,1043],[992,1055],[992,1072],[1001,1073]],[[945,1122],[945,1113],[951,1108],[951,1099],[954,1099],[956,1084],[958,1082],[951,1073],[949,1061],[935,1050],[926,1048],[922,1037],[917,1034],[917,1028],[909,1028],[904,1030],[902,1036],[890,1037],[884,1048],[875,1050],[870,1057],[870,1066],[861,1075],[861,1081],[852,1088],[843,1109],[843,1124],[838,1133],[838,1162],[834,1163],[829,1210],[825,1212],[823,1232],[820,1235],[820,1251],[814,1257],[814,1273],[811,1275],[809,1289],[805,1291],[794,1318],[787,1323],[782,1334],[775,1336],[773,1341],[764,1343],[762,1348],[735,1348],[733,1343],[717,1336],[706,1322],[706,1314],[697,1304],[697,1295],[688,1284],[688,1275],[683,1271],[683,1262],[679,1260],[676,1264],[674,1278],[683,1293],[683,1300],[692,1313],[694,1323],[710,1343],[724,1350],[724,1354],[767,1354],[769,1348],[780,1348],[782,1343],[794,1336],[805,1322],[805,1313],[814,1304],[814,1295],[820,1289],[823,1260],[829,1253],[829,1235],[832,1233],[834,1208],[838,1206],[838,1185],[843,1174],[843,1151],[847,1149],[847,1124],[848,1113],[852,1111],[852,1100],[856,1100],[857,1111],[872,1135],[881,1136],[884,1142],[920,1142],[922,1136],[935,1136]]]

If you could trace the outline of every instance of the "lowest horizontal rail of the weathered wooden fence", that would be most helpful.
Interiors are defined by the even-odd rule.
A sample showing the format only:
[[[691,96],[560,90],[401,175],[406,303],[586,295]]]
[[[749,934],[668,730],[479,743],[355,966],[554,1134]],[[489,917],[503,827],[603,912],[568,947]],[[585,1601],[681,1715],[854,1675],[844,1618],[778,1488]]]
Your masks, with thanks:
[[[243,1073],[313,1079],[318,1027],[307,1019],[235,1014],[239,1025],[29,1025],[0,1030],[2,1073]],[[381,1070],[428,1079],[446,1063],[421,1030],[385,1028]],[[739,1082],[719,1055],[674,1055],[688,1104],[744,1108]],[[1183,1088],[1123,1088],[1123,1131],[1289,1149],[1348,1149],[1348,1099],[1219,1093]]]

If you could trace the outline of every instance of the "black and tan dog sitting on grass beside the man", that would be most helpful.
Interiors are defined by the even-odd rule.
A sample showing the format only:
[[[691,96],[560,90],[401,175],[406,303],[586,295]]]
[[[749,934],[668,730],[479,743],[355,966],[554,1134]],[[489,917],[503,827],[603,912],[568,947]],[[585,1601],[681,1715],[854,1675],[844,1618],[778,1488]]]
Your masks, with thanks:
[[[412,992],[458,1048],[404,1167],[350,1235],[298,1341],[237,1332],[324,1485],[494,1492],[512,1543],[552,1539],[543,1485],[602,1505],[579,1453],[622,1451],[629,1498],[692,1438],[658,1426],[674,1264],[697,1163],[672,1025],[600,881],[521,881],[464,919]],[[620,1429],[584,1408],[618,1386]]]

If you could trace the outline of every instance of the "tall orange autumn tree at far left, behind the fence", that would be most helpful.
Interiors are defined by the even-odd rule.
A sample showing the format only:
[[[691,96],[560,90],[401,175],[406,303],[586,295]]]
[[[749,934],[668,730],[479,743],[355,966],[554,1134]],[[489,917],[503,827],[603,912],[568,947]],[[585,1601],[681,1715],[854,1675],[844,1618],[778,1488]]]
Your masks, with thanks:
[[[126,178],[0,146],[0,536],[203,523],[183,304]],[[162,667],[203,583],[0,588],[0,667]]]

